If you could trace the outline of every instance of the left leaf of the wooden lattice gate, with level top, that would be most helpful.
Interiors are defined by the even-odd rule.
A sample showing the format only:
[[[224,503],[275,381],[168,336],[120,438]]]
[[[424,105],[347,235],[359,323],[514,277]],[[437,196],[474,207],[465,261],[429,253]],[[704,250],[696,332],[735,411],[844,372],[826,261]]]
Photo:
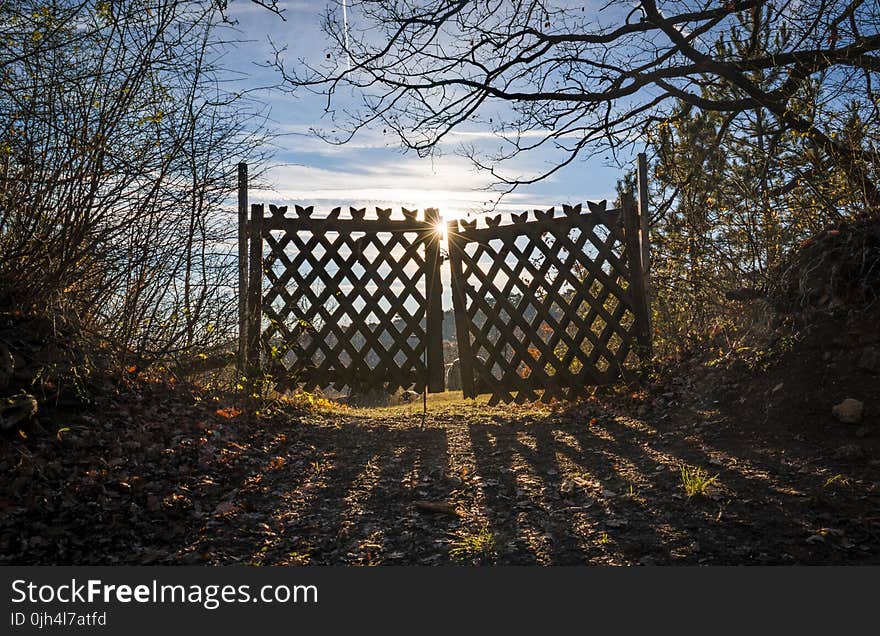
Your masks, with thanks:
[[[262,227],[264,351],[308,390],[421,391],[436,221],[409,210],[392,219],[377,208],[369,219],[365,209],[340,218],[336,208],[313,219],[311,208],[297,206],[296,218],[270,209]]]

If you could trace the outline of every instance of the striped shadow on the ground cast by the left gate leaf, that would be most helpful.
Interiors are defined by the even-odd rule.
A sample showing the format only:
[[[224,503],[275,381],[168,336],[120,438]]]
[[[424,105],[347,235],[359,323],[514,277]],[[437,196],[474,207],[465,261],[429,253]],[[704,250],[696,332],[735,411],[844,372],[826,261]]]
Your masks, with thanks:
[[[359,564],[441,560],[453,521],[426,524],[417,499],[444,499],[448,442],[442,428],[369,420],[304,425],[255,470],[256,487],[199,549],[215,562]],[[457,522],[457,520],[456,520]],[[218,540],[219,539],[219,540]]]

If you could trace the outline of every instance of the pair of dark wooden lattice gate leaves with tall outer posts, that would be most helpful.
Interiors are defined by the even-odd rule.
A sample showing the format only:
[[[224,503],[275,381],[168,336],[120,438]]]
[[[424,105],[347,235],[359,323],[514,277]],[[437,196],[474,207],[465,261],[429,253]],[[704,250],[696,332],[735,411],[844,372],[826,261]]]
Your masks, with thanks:
[[[645,183],[640,157],[638,206],[625,195],[614,210],[448,223],[466,397],[570,399],[650,352]],[[240,166],[242,368],[268,364],[306,389],[443,391],[438,211],[269,210],[250,206],[248,219]]]

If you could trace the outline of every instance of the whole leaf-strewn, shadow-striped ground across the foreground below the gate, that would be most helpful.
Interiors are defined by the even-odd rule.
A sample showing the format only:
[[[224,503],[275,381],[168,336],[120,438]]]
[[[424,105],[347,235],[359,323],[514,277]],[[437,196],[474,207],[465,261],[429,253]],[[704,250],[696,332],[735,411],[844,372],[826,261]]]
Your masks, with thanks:
[[[127,412],[127,434],[73,430],[30,477],[4,447],[21,474],[2,562],[880,562],[880,462],[673,398],[450,404],[424,426],[416,409],[256,425],[215,408],[166,400]],[[682,465],[717,479],[688,497]]]

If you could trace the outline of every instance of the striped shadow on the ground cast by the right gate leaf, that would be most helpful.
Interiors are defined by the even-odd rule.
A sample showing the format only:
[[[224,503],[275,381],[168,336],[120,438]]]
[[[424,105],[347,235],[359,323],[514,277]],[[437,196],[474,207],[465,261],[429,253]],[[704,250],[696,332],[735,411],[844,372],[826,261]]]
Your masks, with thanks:
[[[822,524],[800,473],[774,469],[701,435],[596,415],[468,424],[484,484],[482,514],[496,537],[499,561],[741,564],[828,558],[831,547],[805,542],[812,525]],[[718,474],[710,496],[684,494],[682,464]]]

